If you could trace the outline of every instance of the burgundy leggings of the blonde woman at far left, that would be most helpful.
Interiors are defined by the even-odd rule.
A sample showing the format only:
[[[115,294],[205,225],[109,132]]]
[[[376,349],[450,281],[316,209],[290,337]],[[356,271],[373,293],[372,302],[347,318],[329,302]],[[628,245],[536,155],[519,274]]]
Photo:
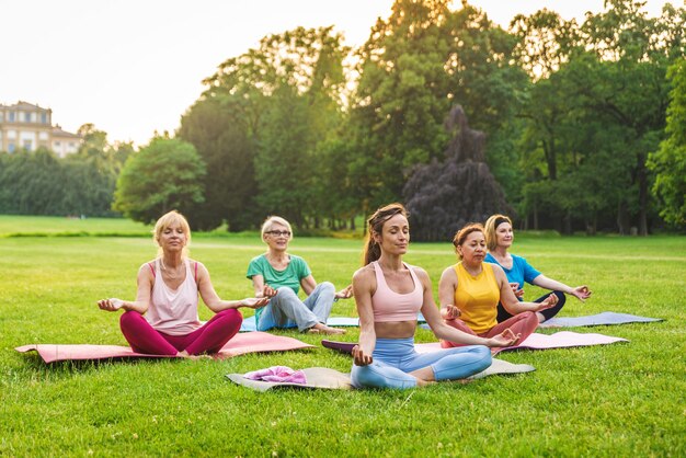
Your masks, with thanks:
[[[127,311],[119,325],[134,352],[173,356],[184,350],[190,355],[219,352],[238,333],[242,321],[238,310],[227,309],[190,334],[169,335],[153,329],[137,311]]]

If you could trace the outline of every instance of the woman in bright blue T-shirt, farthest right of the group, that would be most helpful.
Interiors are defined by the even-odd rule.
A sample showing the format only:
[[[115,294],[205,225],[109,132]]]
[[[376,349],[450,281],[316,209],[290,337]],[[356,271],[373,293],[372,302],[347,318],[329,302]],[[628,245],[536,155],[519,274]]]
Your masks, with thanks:
[[[514,241],[514,231],[512,229],[512,220],[508,217],[504,215],[493,215],[485,221],[484,228],[485,244],[489,249],[489,253],[483,261],[503,267],[505,275],[507,275],[507,282],[510,282],[510,286],[512,286],[515,296],[517,296],[519,300],[523,300],[525,282],[529,285],[550,289],[558,297],[556,307],[536,313],[539,322],[551,319],[562,309],[567,299],[564,296],[565,293],[576,297],[582,302],[591,296],[591,290],[587,286],[583,285],[572,288],[561,282],[548,278],[534,268],[526,259],[511,254],[507,250],[512,247],[512,242]],[[548,296],[549,294],[546,294],[534,302],[540,302]],[[503,322],[510,317],[512,316],[499,304],[498,322]]]

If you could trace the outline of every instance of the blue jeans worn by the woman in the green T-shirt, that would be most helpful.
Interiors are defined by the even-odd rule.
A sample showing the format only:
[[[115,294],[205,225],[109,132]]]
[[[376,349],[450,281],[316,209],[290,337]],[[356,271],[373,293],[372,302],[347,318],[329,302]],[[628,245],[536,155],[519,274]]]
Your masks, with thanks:
[[[258,331],[267,331],[272,328],[298,328],[300,332],[312,328],[317,323],[327,323],[335,288],[329,282],[322,282],[305,300],[288,287],[276,290],[270,304],[264,307],[258,320]]]

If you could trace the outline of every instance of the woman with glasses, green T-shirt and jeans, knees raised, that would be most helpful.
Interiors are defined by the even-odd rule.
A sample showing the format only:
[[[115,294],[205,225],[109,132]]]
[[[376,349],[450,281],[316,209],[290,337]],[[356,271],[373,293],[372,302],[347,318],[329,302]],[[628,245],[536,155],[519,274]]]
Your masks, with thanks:
[[[250,261],[247,274],[255,297],[270,298],[270,305],[255,312],[258,331],[297,327],[300,332],[344,334],[342,329],[328,327],[327,319],[335,300],[352,296],[352,287],[336,293],[329,282],[317,284],[305,260],[288,253],[290,240],[293,230],[284,218],[272,216],[262,225],[267,250]],[[307,294],[305,300],[298,297],[300,287]]]

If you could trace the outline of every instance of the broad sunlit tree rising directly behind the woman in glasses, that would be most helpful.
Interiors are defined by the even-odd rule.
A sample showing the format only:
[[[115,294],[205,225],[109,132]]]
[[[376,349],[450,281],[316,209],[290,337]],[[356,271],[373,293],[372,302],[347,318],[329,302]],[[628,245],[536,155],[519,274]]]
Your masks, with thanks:
[[[332,27],[298,27],[265,36],[258,48],[226,60],[206,80],[204,100],[215,100],[214,106],[238,121],[241,150],[232,154],[253,160],[254,175],[243,180],[253,180],[252,202],[262,216],[279,213],[297,226],[317,224],[339,196],[327,187],[321,169],[329,162],[324,145],[342,124],[347,51]],[[181,134],[191,138],[187,130]],[[193,141],[203,153],[217,134],[202,135]],[[250,202],[243,199],[243,208],[254,210]]]

